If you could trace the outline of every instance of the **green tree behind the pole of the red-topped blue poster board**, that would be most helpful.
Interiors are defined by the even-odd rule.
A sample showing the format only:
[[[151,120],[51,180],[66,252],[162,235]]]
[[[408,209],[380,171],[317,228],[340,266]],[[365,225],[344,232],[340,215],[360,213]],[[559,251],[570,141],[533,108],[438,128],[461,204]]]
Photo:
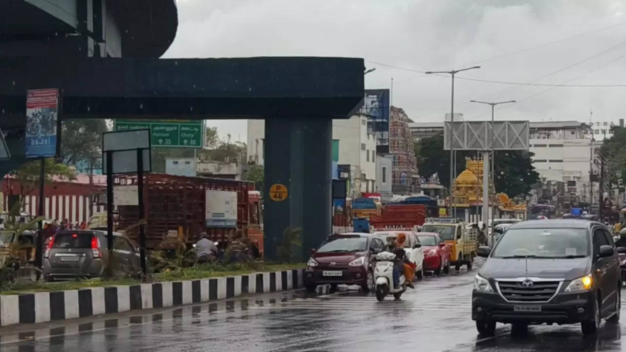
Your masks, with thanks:
[[[45,160],[44,182],[46,184],[51,184],[55,176],[65,180],[76,179],[76,170],[74,168],[64,163],[58,163],[54,158],[46,158]],[[19,183],[20,202],[23,201],[25,195],[29,195],[38,189],[40,173],[41,161],[39,160],[23,163],[19,168],[9,173],[13,180]]]

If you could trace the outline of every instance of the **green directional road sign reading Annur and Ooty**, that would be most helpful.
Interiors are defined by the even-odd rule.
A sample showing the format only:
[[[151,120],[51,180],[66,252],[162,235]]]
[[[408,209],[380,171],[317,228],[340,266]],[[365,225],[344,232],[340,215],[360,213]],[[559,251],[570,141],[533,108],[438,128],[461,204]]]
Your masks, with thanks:
[[[202,147],[202,120],[115,120],[116,131],[141,128],[150,128],[152,147]]]

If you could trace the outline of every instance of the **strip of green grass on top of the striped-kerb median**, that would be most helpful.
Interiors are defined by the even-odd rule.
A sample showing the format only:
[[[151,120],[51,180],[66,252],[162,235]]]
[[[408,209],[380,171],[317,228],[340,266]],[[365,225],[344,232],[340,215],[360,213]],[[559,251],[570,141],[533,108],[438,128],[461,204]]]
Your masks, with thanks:
[[[264,264],[257,263],[254,268],[246,267],[242,264],[200,264],[197,267],[188,267],[182,271],[160,272],[153,274],[148,282],[161,281],[177,281],[205,279],[207,277],[225,277],[250,274],[252,272],[281,271],[290,269],[301,269],[306,264]],[[66,291],[72,289],[83,289],[88,287],[116,286],[116,285],[136,285],[142,281],[136,279],[84,279],[75,281],[60,282],[33,282],[33,281],[16,281],[7,289],[0,291],[0,294],[24,294],[29,292],[49,292],[49,291]]]

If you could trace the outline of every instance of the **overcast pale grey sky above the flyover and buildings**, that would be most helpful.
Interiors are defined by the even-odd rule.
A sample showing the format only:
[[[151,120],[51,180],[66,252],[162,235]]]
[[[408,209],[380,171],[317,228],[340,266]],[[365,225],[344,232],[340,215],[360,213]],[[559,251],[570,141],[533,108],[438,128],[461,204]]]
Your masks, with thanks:
[[[393,105],[415,122],[443,120],[449,78],[372,62],[419,71],[481,65],[459,77],[484,80],[626,85],[626,0],[178,0],[178,21],[165,58],[364,58],[376,68],[366,88],[391,88],[393,78]],[[519,101],[496,108],[498,120],[588,122],[590,109],[594,120],[626,116],[626,86],[455,86],[454,110],[466,120],[490,117],[472,99]],[[246,140],[245,120],[208,125]]]

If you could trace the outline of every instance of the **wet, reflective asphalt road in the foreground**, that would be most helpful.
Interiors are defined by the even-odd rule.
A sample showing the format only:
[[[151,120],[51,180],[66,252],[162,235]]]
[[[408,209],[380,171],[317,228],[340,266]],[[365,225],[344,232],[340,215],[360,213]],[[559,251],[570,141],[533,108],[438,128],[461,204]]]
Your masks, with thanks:
[[[626,351],[626,324],[603,323],[597,338],[583,338],[578,324],[531,326],[525,336],[498,324],[495,338],[480,338],[470,319],[475,272],[428,276],[400,301],[379,303],[356,291],[287,292],[3,328],[0,351]]]

